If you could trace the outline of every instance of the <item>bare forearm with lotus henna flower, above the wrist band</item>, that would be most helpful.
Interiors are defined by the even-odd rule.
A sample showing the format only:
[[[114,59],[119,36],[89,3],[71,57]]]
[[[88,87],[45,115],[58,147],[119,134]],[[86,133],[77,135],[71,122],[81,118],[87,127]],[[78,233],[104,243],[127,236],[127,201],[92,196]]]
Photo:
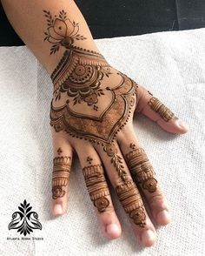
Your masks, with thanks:
[[[82,13],[72,0],[2,0],[19,37],[52,73],[70,45],[98,51]]]

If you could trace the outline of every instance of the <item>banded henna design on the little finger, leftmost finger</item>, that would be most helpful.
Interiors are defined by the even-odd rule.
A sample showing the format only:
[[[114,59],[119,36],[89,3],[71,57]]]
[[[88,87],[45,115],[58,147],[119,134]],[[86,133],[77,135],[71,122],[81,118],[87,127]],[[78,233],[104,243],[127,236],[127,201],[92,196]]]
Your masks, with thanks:
[[[63,187],[68,185],[70,171],[70,157],[53,159],[52,198],[62,198],[65,195]]]

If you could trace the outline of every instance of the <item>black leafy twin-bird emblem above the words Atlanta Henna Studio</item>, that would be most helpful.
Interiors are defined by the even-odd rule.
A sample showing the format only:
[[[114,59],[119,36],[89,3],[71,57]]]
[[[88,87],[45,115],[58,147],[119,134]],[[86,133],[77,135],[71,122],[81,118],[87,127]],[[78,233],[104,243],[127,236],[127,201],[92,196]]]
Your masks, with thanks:
[[[23,204],[18,206],[20,212],[14,212],[12,214],[12,220],[8,226],[10,229],[17,229],[17,232],[26,236],[33,232],[33,229],[41,229],[42,225],[38,221],[38,214],[36,212],[31,212],[32,206],[27,204],[26,200]]]

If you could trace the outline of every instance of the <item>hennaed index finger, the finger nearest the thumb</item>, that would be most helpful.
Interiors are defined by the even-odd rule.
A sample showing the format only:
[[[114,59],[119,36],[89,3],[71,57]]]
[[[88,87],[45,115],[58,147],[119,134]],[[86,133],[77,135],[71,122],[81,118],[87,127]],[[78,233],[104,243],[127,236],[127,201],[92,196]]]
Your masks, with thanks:
[[[156,223],[158,225],[169,224],[170,217],[167,199],[156,179],[149,158],[137,140],[134,131],[123,132],[120,137],[120,148],[136,185],[140,186],[149,203]]]

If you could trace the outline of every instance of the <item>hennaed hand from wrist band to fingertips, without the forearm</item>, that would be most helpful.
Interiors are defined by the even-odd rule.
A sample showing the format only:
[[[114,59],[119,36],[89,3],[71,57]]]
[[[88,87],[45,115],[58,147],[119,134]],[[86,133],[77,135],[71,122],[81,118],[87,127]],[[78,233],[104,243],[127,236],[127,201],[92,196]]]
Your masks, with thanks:
[[[158,225],[169,223],[169,206],[136,138],[133,115],[142,111],[173,133],[184,133],[187,128],[149,91],[112,68],[98,52],[69,46],[51,78],[54,214],[66,212],[70,166],[76,152],[102,232],[111,239],[121,234],[109,179],[142,245],[153,245],[155,227],[142,194]]]

